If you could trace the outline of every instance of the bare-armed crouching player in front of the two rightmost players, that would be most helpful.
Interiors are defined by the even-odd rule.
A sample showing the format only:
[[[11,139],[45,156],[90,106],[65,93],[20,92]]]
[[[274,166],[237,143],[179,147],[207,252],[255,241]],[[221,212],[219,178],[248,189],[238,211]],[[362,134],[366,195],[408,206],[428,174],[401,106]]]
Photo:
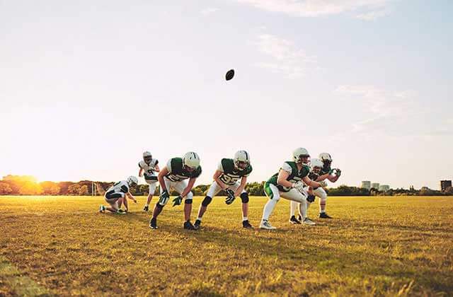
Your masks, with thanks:
[[[307,194],[304,190],[304,182],[312,187],[321,187],[321,185],[308,177],[310,171],[309,166],[306,165],[310,158],[308,151],[305,148],[296,148],[292,156],[293,161],[283,163],[279,172],[275,173],[264,184],[264,191],[269,200],[263,209],[263,219],[261,220],[260,228],[275,229],[268,220],[280,197],[299,202],[299,211],[303,216],[303,222],[306,225],[315,225],[314,221],[306,217]]]

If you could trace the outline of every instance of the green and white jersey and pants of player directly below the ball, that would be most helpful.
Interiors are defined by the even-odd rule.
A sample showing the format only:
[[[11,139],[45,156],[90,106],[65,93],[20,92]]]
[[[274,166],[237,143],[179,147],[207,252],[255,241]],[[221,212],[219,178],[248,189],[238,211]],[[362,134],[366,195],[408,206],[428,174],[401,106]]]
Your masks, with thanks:
[[[223,158],[222,161],[220,161],[217,170],[222,171],[222,175],[219,176],[219,180],[222,180],[222,182],[224,182],[224,184],[228,186],[227,189],[236,191],[240,185],[239,180],[242,177],[247,177],[248,175],[250,175],[253,169],[252,166],[248,164],[248,166],[243,170],[238,170],[234,165],[233,159]],[[214,182],[212,182],[212,185],[210,186],[210,189],[207,191],[207,196],[212,198],[217,193],[219,193],[220,190],[222,190],[222,188],[214,180]],[[242,193],[244,192],[246,192],[246,190],[242,191]]]

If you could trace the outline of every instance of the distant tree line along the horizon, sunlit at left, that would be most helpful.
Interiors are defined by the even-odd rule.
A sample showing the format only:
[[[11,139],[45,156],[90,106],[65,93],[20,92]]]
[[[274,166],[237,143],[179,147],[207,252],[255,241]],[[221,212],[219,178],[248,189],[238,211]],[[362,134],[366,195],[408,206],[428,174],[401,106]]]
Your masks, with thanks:
[[[103,194],[105,190],[113,185],[114,182],[94,182],[95,194]],[[248,182],[246,191],[251,196],[265,196],[263,186],[265,182]],[[93,181],[81,180],[80,182],[37,182],[34,177],[28,175],[6,175],[0,180],[0,195],[74,195],[86,196],[93,194]],[[205,196],[210,185],[197,185],[193,188],[195,196]],[[136,185],[131,187],[131,193],[134,195],[147,195],[148,185]],[[386,192],[380,192],[372,188],[367,190],[361,187],[350,187],[340,185],[336,188],[328,188],[327,192],[331,196],[443,196],[453,195],[453,188],[449,187],[445,192],[431,190],[423,187],[415,190],[398,188],[390,189]],[[156,190],[156,195],[159,189]],[[172,195],[178,193],[172,192]],[[224,191],[219,192],[219,196],[226,196]]]

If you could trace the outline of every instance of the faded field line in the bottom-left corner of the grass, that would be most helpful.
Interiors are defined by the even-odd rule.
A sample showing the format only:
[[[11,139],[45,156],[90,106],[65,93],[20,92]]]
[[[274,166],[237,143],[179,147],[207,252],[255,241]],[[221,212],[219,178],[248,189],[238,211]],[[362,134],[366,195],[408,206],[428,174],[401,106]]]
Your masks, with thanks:
[[[43,286],[23,276],[11,262],[0,255],[0,279],[18,296],[52,296]]]

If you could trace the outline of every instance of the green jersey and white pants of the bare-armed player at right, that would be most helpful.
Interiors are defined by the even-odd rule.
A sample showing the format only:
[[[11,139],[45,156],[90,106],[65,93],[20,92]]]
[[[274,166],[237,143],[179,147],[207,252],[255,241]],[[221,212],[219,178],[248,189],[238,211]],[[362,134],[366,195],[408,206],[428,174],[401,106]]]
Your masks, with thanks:
[[[293,161],[287,161],[283,163],[280,170],[285,170],[289,173],[287,181],[295,183],[302,180],[303,177],[309,175],[310,168],[308,165],[302,165],[301,170],[297,169],[297,164]],[[283,197],[294,202],[299,202],[299,211],[302,216],[306,218],[306,197],[305,191],[299,192],[298,190],[291,187],[283,187],[277,183],[278,173],[275,173],[270,179],[264,184],[264,192],[269,197],[268,203],[264,206],[263,220],[267,221],[270,214],[272,214],[275,205]]]

